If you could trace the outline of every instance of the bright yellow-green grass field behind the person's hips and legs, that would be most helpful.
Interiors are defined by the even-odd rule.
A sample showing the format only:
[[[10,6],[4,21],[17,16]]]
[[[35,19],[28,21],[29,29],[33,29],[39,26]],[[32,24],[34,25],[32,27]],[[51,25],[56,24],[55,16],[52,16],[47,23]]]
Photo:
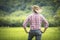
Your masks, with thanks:
[[[27,28],[29,31],[29,28]],[[28,33],[22,27],[0,27],[0,40],[27,40]],[[35,38],[33,38],[35,40]],[[42,40],[60,40],[60,27],[49,27]]]

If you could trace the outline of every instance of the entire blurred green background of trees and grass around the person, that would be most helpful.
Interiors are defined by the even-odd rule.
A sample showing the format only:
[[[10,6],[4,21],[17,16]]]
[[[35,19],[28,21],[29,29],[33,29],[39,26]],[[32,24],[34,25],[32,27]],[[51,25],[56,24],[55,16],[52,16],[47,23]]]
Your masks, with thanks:
[[[0,0],[0,40],[27,40],[22,24],[33,5],[42,8],[41,14],[49,22],[42,40],[60,40],[60,0]]]

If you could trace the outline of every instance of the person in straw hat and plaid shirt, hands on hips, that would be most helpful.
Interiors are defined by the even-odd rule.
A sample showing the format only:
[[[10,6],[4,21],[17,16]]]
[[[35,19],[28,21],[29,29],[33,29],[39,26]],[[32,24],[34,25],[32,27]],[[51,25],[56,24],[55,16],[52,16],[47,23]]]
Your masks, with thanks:
[[[41,40],[42,33],[46,31],[48,28],[48,21],[45,17],[40,13],[41,8],[37,5],[32,6],[33,13],[27,17],[27,19],[23,23],[23,28],[26,33],[29,33],[28,40],[32,40],[35,37],[36,40]],[[39,14],[40,13],[40,14]],[[44,23],[44,30],[41,30],[41,24]],[[27,24],[30,23],[30,31],[28,32],[26,27]]]

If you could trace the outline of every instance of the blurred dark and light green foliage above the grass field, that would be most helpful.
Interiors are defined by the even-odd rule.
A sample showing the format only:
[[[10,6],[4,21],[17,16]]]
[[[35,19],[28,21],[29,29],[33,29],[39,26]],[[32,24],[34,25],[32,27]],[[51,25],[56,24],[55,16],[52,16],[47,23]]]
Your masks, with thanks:
[[[22,26],[26,17],[32,13],[32,5],[42,7],[49,27],[60,26],[60,0],[0,0],[0,27]]]

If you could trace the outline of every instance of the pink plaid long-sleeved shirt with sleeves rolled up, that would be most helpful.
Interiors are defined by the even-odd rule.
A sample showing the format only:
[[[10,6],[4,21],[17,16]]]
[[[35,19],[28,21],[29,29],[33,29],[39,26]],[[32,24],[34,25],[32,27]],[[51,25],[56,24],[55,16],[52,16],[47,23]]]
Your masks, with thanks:
[[[44,22],[44,27],[45,27],[45,28],[48,27],[48,22],[47,22],[47,20],[46,20],[46,19],[44,18],[44,16],[42,16],[41,14],[33,13],[33,14],[29,15],[29,16],[27,17],[27,19],[24,21],[23,27],[26,28],[28,22],[30,23],[30,29],[31,29],[31,30],[40,29],[42,22]]]

